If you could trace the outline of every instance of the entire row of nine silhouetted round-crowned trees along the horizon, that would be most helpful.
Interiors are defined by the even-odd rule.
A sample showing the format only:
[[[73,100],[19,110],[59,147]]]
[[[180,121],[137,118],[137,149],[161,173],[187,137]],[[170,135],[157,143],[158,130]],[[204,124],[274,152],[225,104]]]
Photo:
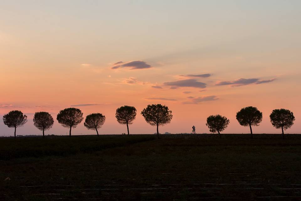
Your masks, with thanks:
[[[115,117],[120,124],[126,124],[129,134],[129,125],[132,124],[136,118],[137,110],[134,106],[121,106],[117,108]],[[172,120],[172,111],[167,106],[161,104],[148,105],[141,111],[141,115],[145,121],[151,126],[157,127],[157,136],[159,138],[159,126],[168,124]],[[66,108],[61,110],[56,120],[65,128],[70,128],[69,136],[71,136],[71,128],[76,128],[83,120],[83,113],[77,108]],[[242,126],[249,126],[251,131],[251,139],[253,139],[252,126],[259,126],[262,121],[262,112],[256,107],[244,107],[236,113],[236,119]],[[86,116],[84,126],[90,130],[96,130],[102,127],[106,117],[101,113],[92,113]],[[293,112],[287,109],[275,109],[270,114],[270,121],[272,125],[282,129],[282,136],[284,139],[284,131],[290,128],[295,117]],[[13,110],[3,116],[3,122],[9,128],[15,128],[14,137],[16,138],[16,128],[23,126],[27,122],[27,116],[23,115],[21,111]],[[50,130],[54,123],[53,117],[50,113],[45,111],[35,112],[33,118],[34,126],[43,131],[43,138],[45,138],[44,131]],[[221,138],[220,132],[228,127],[230,120],[221,115],[211,115],[207,118],[206,126],[212,133],[218,133]]]

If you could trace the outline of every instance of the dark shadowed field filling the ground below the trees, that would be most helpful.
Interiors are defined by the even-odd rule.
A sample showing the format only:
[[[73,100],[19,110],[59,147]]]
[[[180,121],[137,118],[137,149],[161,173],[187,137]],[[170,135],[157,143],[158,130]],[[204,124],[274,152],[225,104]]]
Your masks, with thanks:
[[[301,200],[301,135],[161,137],[2,138],[0,200]]]

